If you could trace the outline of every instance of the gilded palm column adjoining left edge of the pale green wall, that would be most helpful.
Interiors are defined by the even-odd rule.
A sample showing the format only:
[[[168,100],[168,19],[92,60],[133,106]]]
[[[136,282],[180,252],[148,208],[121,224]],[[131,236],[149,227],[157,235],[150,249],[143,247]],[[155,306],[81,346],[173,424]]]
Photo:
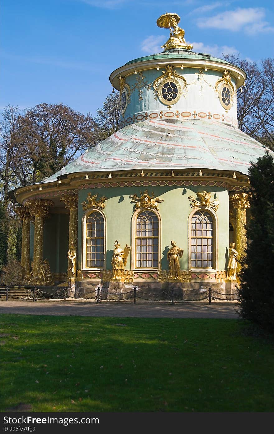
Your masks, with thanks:
[[[76,277],[77,264],[77,232],[78,232],[78,194],[66,194],[60,198],[65,204],[65,208],[69,210],[69,251],[68,251],[68,277]],[[74,258],[70,259],[71,250],[74,250]]]

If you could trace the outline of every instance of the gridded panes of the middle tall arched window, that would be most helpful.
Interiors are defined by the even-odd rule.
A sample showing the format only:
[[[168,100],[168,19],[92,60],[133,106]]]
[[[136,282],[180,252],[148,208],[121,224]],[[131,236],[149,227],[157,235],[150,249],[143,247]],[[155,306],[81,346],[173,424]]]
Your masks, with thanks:
[[[142,211],[136,220],[136,268],[158,268],[159,221],[152,211]]]

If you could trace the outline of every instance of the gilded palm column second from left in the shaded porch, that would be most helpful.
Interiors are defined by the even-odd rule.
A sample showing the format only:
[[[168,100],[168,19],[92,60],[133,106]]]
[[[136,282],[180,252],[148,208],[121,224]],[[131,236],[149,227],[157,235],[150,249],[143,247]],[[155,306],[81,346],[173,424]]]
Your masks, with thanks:
[[[49,214],[49,207],[54,203],[49,199],[36,199],[27,201],[26,207],[29,213],[35,217],[34,220],[34,241],[33,241],[33,273],[36,274],[43,261],[43,226],[44,219]]]

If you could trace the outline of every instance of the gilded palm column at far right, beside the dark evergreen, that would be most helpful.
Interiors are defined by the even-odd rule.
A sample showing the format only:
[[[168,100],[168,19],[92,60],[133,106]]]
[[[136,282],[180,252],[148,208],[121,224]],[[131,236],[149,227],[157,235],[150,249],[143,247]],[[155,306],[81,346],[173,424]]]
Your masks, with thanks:
[[[232,207],[236,210],[236,249],[241,261],[246,247],[246,209],[249,208],[248,193],[233,193],[229,197]],[[238,271],[241,265],[238,262]]]

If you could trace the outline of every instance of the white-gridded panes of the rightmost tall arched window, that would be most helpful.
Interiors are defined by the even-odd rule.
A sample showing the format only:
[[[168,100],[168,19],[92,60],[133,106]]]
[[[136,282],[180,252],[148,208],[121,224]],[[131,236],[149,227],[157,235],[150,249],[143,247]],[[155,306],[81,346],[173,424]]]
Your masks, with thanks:
[[[207,211],[196,211],[191,219],[191,267],[213,268],[213,218]]]

